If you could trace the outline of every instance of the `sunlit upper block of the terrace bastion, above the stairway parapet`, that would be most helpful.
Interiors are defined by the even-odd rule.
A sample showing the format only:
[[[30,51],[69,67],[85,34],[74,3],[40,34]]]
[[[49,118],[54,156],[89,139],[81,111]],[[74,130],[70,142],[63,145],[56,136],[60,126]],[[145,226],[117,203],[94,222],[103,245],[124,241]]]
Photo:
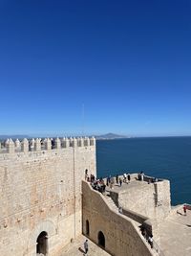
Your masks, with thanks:
[[[125,193],[118,194],[119,205],[158,222],[163,221],[171,209],[169,181],[161,180],[151,184],[139,182],[136,189],[127,189]]]

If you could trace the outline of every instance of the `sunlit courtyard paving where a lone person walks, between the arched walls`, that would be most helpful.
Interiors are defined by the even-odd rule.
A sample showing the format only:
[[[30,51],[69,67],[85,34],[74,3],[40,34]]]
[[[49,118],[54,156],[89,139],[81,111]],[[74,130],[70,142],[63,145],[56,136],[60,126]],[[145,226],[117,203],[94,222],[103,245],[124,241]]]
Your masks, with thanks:
[[[87,238],[79,236],[72,244],[68,244],[60,256],[84,256],[83,244]],[[109,253],[98,247],[91,240],[88,239],[89,252],[88,256],[110,256]]]

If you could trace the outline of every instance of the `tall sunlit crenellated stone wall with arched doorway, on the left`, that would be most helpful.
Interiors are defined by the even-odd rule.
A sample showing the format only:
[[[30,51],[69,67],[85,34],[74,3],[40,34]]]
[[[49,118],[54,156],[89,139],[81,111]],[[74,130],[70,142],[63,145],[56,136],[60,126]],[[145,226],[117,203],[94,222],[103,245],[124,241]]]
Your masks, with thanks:
[[[95,138],[10,139],[1,145],[1,256],[36,256],[39,249],[59,255],[82,233],[86,169],[96,175]]]

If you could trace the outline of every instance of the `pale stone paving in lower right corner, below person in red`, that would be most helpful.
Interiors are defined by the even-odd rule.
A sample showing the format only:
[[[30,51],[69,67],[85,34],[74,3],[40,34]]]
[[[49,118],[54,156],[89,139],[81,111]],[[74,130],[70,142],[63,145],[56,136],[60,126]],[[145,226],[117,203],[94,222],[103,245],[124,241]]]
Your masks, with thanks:
[[[174,208],[160,224],[159,237],[165,256],[191,256],[191,210],[184,216],[182,205]]]

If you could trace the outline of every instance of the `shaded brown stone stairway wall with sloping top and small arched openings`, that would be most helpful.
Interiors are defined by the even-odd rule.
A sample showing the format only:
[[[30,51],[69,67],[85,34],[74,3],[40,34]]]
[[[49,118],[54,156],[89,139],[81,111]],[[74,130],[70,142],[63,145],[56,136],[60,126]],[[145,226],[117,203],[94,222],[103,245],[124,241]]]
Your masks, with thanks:
[[[83,234],[98,244],[98,232],[105,237],[105,250],[113,256],[151,256],[149,245],[139,234],[136,226],[127,217],[113,211],[106,199],[82,181]],[[89,221],[87,235],[86,221]]]

